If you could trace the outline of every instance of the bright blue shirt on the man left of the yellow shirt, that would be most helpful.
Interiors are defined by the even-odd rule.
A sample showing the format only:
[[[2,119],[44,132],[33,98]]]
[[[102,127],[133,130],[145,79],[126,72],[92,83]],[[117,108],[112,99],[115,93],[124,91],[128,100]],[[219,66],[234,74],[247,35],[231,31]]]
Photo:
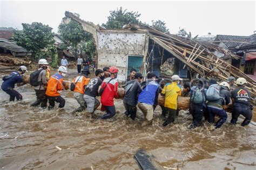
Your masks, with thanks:
[[[138,102],[145,103],[148,105],[157,105],[158,94],[159,84],[151,80],[143,88],[142,92],[139,93]]]

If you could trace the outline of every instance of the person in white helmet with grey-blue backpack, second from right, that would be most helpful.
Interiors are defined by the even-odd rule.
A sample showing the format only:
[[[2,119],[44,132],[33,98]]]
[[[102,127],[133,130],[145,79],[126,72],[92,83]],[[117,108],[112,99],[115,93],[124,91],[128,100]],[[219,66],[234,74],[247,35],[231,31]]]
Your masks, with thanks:
[[[209,123],[213,124],[215,115],[218,115],[219,120],[214,125],[214,127],[220,128],[227,120],[227,113],[223,109],[222,105],[228,105],[230,103],[230,92],[229,92],[230,85],[227,82],[223,81],[222,83],[220,83],[220,87],[218,87],[217,80],[215,79],[211,79],[209,81],[209,84],[210,86],[206,91],[206,99],[208,100],[208,103],[207,103],[208,121]],[[219,92],[219,94],[214,94],[216,96],[219,96],[219,99],[217,100],[208,99],[207,93],[208,91],[211,91],[212,88],[217,89],[216,92]]]

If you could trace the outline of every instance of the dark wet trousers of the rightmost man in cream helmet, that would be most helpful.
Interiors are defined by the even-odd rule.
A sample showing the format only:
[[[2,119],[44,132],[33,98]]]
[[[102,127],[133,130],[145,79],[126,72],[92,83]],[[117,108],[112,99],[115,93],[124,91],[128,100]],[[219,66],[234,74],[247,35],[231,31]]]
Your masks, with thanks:
[[[242,114],[245,117],[241,126],[248,125],[250,123],[250,121],[252,120],[252,110],[249,106],[233,107],[231,124],[236,124],[237,123],[237,119],[238,119],[240,114]]]

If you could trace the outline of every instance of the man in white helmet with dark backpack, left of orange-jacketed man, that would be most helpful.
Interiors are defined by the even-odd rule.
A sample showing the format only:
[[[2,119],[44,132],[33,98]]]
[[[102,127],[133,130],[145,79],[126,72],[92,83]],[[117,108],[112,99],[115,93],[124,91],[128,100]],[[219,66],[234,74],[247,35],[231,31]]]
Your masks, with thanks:
[[[46,97],[46,70],[48,69],[49,63],[46,59],[39,59],[38,66],[39,68],[30,74],[30,85],[34,86],[36,92],[37,100],[32,103],[30,106],[35,107],[41,104],[42,108],[47,107],[47,97]]]

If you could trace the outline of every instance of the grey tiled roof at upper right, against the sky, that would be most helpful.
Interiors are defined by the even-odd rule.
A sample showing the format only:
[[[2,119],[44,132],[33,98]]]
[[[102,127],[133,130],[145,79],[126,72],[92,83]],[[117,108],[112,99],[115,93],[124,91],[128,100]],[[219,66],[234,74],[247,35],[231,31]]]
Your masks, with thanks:
[[[251,39],[248,36],[217,35],[214,41],[223,42],[227,47],[237,47],[251,43]]]

